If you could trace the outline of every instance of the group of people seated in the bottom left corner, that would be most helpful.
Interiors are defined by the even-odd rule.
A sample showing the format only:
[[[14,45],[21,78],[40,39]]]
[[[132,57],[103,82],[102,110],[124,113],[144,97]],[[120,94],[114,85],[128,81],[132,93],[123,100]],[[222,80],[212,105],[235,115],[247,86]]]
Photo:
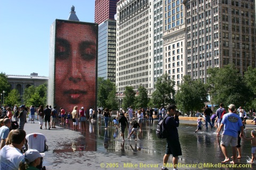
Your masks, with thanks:
[[[36,149],[28,149],[22,153],[26,143],[26,132],[21,128],[10,131],[10,128],[11,120],[5,117],[0,128],[0,169],[36,169],[45,154],[39,153]]]

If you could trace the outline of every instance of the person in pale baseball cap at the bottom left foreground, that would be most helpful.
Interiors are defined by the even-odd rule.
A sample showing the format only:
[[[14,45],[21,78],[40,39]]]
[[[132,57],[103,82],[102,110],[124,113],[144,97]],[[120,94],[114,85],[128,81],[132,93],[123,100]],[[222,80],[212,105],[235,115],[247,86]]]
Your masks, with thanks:
[[[22,162],[19,166],[20,170],[36,170],[36,166],[40,165],[41,158],[44,157],[44,153],[39,153],[36,149],[28,149],[25,154],[25,162]]]

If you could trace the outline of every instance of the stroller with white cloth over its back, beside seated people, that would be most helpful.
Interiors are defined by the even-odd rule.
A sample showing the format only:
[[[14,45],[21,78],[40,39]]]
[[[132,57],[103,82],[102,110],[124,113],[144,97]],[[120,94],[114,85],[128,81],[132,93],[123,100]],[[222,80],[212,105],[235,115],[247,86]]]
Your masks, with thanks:
[[[48,146],[46,145],[45,135],[42,133],[30,133],[26,135],[26,143],[23,147],[23,152],[25,153],[28,149],[36,149],[39,152],[45,152],[48,150]],[[41,158],[40,165],[37,166],[38,169],[45,169],[43,166],[43,157]]]

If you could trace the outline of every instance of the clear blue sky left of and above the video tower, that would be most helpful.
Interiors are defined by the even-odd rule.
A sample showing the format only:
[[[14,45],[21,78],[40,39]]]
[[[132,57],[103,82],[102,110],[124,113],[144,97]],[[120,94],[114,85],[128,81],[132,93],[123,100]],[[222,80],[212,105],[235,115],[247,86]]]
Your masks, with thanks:
[[[67,20],[72,5],[78,19],[94,22],[94,0],[0,1],[0,72],[49,77],[50,26]]]

